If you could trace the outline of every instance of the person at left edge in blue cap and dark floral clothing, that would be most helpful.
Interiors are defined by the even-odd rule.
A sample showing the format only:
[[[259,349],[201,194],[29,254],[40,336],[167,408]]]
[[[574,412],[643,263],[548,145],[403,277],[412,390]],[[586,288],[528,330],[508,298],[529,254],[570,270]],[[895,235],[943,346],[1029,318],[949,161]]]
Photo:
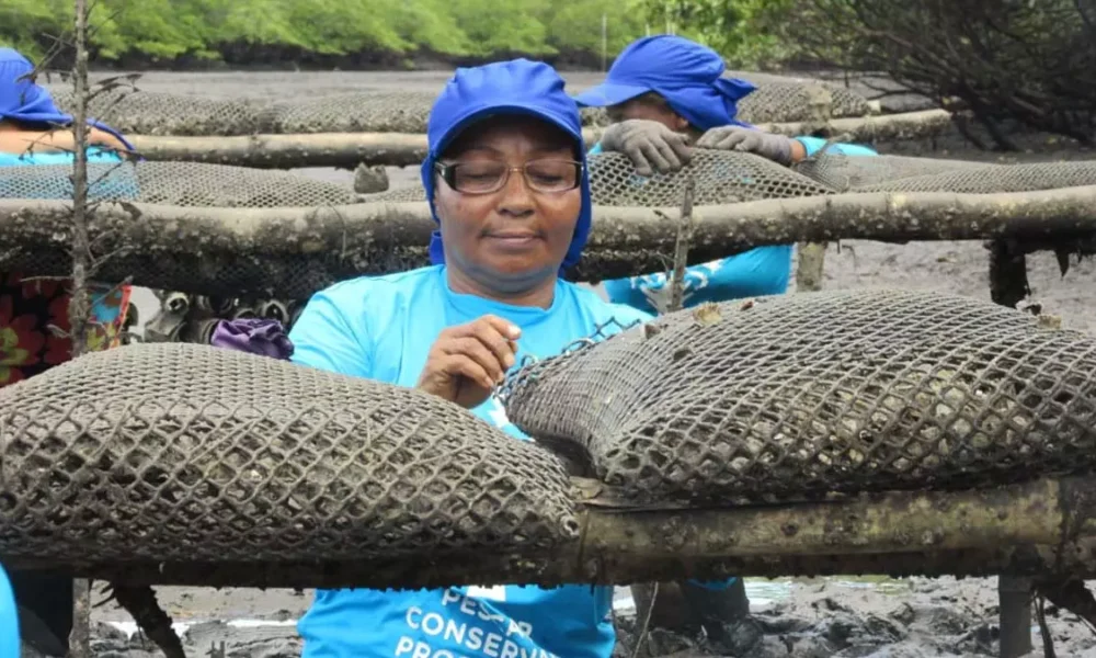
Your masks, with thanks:
[[[34,67],[19,52],[0,48],[0,180],[8,167],[71,164],[76,138],[72,117],[54,104],[49,92],[31,79]],[[92,123],[88,160],[119,162],[117,151],[133,150],[117,132]],[[94,285],[92,348],[117,345],[129,308],[129,286]],[[72,342],[49,330],[68,331],[70,290],[65,281],[30,280],[0,272],[0,386],[14,384],[71,359]],[[47,655],[65,655],[72,624],[72,579],[11,571],[11,588],[24,639]],[[31,624],[30,619],[37,617]]]

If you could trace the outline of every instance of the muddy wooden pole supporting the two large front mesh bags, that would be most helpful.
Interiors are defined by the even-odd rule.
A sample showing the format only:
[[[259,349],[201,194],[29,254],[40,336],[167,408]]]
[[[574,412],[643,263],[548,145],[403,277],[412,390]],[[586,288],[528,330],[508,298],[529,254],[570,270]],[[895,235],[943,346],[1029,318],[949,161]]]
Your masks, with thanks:
[[[1096,576],[1091,478],[974,491],[902,491],[730,509],[636,508],[573,480],[583,529],[547,554],[272,563],[70,565],[126,585],[423,588],[479,583],[632,585],[834,574]],[[4,558],[11,568],[56,568]]]

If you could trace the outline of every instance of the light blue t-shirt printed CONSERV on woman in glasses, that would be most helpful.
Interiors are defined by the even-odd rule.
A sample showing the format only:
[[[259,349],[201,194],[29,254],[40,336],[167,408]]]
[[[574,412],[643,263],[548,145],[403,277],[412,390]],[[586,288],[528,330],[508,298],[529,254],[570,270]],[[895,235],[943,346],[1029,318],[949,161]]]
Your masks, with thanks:
[[[522,328],[517,362],[649,318],[560,281],[548,309],[449,290],[444,265],[354,279],[317,293],[289,332],[293,361],[414,386],[446,327],[492,314]],[[473,412],[522,440],[495,399]],[[608,658],[613,588],[505,586],[420,591],[320,590],[298,623],[304,658]]]

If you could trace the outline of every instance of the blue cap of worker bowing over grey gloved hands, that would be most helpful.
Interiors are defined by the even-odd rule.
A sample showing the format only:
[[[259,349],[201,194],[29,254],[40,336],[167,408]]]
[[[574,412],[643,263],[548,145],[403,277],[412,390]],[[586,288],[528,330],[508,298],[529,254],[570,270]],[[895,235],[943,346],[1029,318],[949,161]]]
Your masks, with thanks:
[[[756,89],[723,78],[727,65],[715,50],[681,36],[660,34],[632,42],[617,56],[605,82],[575,97],[579,105],[605,107],[648,92],[664,98],[693,127],[752,127],[734,118],[738,102]]]

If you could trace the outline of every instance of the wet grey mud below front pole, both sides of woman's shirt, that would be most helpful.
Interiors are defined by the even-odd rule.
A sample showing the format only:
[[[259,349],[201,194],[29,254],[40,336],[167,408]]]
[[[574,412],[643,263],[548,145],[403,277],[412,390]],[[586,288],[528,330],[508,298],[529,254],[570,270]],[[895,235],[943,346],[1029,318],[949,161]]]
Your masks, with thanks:
[[[751,582],[751,586],[758,585]],[[750,587],[749,589],[754,589]],[[751,658],[928,658],[998,656],[997,587],[995,579],[911,578],[876,585],[837,579],[781,583],[776,600],[752,601],[750,617],[729,625],[721,643],[653,629],[639,656]],[[625,594],[624,590],[620,594]],[[751,594],[754,595],[753,593]],[[311,594],[290,591],[198,590],[159,588],[189,656],[290,658],[301,643],[292,621],[304,613]],[[618,646],[615,657],[630,658],[637,621],[618,597]],[[225,621],[246,615],[247,624]],[[215,620],[215,621],[209,621]],[[159,655],[130,628],[121,610],[104,608],[95,615],[94,648],[99,657],[144,658]],[[1047,622],[1061,657],[1096,658],[1096,635],[1077,617],[1052,606]],[[1035,649],[1043,657],[1035,621]],[[224,643],[224,654],[219,654]],[[214,654],[210,654],[210,650]],[[33,654],[27,654],[32,656]]]

